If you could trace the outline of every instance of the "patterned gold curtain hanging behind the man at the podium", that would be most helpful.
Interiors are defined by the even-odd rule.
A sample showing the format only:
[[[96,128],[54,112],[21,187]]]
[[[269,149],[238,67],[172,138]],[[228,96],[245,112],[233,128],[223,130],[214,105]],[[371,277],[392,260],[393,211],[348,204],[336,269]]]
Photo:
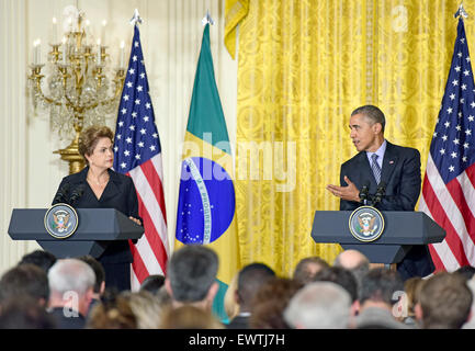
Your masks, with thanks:
[[[242,264],[260,261],[290,275],[304,257],[331,263],[341,251],[316,245],[310,230],[315,211],[338,210],[325,186],[338,184],[340,165],[355,154],[348,121],[360,105],[383,110],[389,141],[419,149],[423,176],[459,3],[250,0],[238,57]],[[465,9],[475,16],[474,3]]]

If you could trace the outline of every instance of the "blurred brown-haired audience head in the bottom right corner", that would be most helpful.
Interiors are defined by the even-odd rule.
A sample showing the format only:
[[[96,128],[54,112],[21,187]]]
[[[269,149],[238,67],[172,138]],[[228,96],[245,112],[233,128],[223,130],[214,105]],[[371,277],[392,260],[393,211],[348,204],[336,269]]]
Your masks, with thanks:
[[[419,294],[422,328],[460,329],[470,316],[472,299],[466,280],[459,273],[432,275]]]

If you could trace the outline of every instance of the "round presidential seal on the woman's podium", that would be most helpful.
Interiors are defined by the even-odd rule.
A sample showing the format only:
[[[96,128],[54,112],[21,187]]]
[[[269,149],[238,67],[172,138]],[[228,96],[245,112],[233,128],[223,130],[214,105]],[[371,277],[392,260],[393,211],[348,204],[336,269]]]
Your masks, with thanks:
[[[45,214],[45,229],[56,239],[69,238],[78,228],[78,213],[68,204],[59,203]]]

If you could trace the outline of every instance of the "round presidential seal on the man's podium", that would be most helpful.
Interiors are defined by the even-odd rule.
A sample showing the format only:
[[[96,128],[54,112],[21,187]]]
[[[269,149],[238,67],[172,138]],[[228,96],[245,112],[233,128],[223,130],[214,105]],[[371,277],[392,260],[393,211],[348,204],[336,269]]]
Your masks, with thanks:
[[[361,206],[350,215],[350,231],[360,241],[376,240],[384,230],[384,217],[373,206]]]

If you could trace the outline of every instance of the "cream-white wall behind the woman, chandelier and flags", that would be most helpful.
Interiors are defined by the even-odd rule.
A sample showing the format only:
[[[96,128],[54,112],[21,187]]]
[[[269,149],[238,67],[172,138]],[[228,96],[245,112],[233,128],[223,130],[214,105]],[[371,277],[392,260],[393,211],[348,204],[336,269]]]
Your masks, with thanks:
[[[0,0],[0,273],[38,247],[10,239],[7,230],[12,208],[47,207],[68,173],[67,162],[53,151],[70,140],[59,140],[50,132],[47,112],[34,113],[26,75],[33,41],[41,38],[45,60],[52,18],[63,20],[63,10],[71,4],[76,1]],[[201,20],[207,9],[216,22],[211,45],[217,86],[229,137],[236,139],[237,61],[223,42],[224,0],[82,0],[79,8],[92,30],[99,31],[102,20],[108,21],[106,44],[113,56],[122,39],[129,49],[133,26],[128,21],[135,8],[144,19],[140,38],[161,139],[167,220],[173,242],[181,145],[201,47]],[[108,124],[115,127],[115,120]]]

